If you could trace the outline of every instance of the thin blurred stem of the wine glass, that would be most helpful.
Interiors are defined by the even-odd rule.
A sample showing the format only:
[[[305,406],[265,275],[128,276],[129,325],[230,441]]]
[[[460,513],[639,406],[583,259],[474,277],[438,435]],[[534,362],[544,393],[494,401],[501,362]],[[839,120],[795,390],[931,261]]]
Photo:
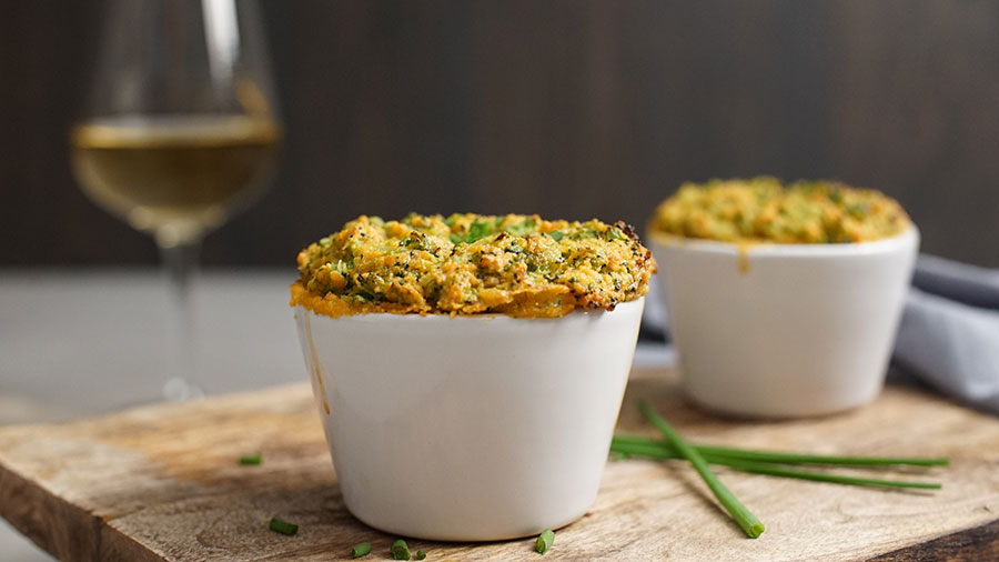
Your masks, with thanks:
[[[182,401],[204,395],[195,383],[194,308],[191,289],[198,270],[201,240],[173,244],[158,243],[170,290],[168,338],[171,372],[163,385],[163,398]]]

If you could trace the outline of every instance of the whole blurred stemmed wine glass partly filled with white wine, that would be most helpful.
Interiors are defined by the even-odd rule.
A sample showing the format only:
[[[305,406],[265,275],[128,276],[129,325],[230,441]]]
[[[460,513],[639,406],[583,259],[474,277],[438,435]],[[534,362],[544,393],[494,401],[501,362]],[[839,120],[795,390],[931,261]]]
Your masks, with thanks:
[[[190,285],[204,235],[246,207],[276,159],[281,126],[254,0],[112,0],[98,64],[70,133],[83,192],[152,234],[174,293],[173,375],[190,380]]]

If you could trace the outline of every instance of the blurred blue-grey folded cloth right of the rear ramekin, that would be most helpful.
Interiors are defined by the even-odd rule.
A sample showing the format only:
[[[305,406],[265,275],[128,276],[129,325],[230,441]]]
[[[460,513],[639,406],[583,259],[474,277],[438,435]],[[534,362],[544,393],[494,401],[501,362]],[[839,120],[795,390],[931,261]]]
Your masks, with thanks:
[[[920,255],[892,361],[940,392],[999,415],[999,270]]]

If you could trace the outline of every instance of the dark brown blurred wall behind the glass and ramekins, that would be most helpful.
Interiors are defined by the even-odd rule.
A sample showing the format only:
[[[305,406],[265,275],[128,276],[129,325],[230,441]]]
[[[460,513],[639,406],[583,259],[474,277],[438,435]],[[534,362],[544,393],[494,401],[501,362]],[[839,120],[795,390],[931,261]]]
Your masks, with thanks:
[[[0,264],[153,262],[65,130],[100,2],[0,3]],[[642,224],[684,180],[879,188],[924,249],[999,265],[999,2],[265,1],[287,130],[210,263],[287,263],[360,213]]]

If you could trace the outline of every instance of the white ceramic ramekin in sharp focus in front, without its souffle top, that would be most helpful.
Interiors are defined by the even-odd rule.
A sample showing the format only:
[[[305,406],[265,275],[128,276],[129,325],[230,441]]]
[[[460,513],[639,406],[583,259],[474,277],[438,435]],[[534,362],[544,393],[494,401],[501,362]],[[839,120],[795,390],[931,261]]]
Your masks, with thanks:
[[[447,541],[536,534],[596,498],[644,299],[557,319],[295,309],[347,509]]]

